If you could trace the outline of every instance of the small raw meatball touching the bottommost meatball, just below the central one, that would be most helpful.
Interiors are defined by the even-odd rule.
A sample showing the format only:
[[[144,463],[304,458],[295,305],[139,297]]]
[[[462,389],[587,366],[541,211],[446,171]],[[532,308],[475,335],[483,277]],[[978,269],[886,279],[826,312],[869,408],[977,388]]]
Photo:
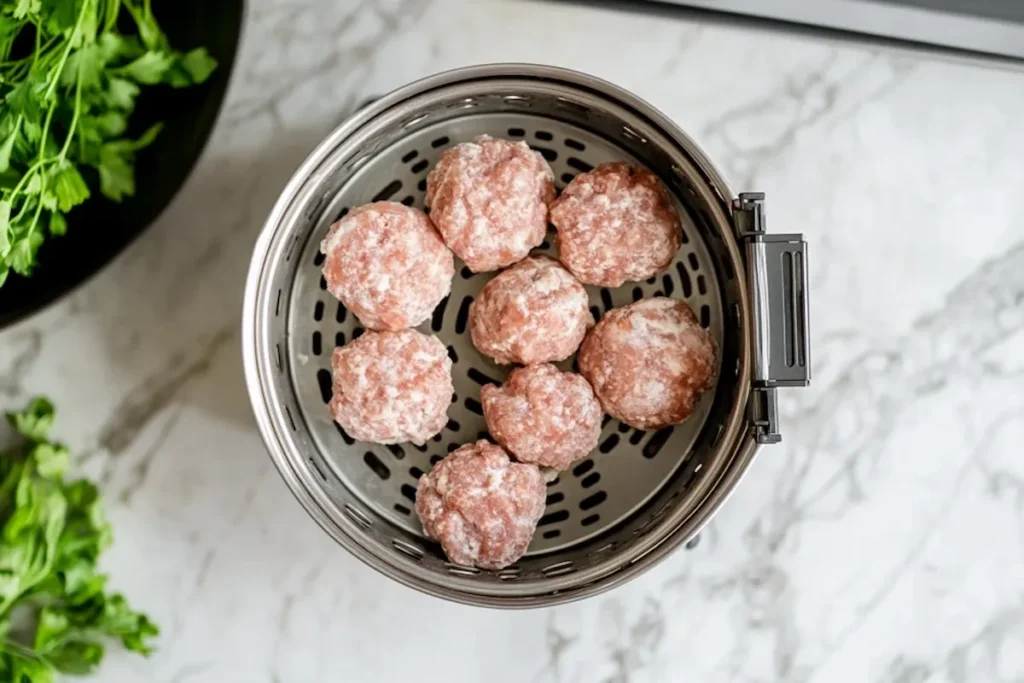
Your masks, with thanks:
[[[552,365],[512,371],[480,390],[487,430],[523,463],[557,470],[585,458],[601,436],[601,404],[590,383]]]

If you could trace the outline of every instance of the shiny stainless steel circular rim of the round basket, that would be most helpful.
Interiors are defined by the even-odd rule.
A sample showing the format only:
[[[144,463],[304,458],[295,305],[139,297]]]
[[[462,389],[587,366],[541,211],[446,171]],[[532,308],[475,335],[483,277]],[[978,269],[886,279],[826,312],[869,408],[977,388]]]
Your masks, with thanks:
[[[634,578],[695,536],[721,507],[748,469],[757,450],[743,419],[749,392],[749,381],[744,381],[744,378],[749,379],[751,376],[753,352],[751,339],[744,336],[740,340],[737,381],[741,385],[741,390],[725,422],[719,446],[731,452],[731,457],[715,459],[718,470],[705,472],[701,485],[686,492],[676,508],[657,522],[659,527],[657,532],[635,539],[629,546],[609,553],[607,559],[595,566],[560,577],[523,579],[514,585],[481,586],[471,579],[452,575],[445,577],[446,586],[440,586],[421,578],[415,570],[416,564],[413,560],[397,553],[381,552],[379,544],[360,532],[358,526],[344,514],[324,487],[307,485],[307,478],[301,476],[301,473],[308,466],[301,454],[292,453],[286,447],[288,439],[275,426],[282,424],[282,421],[280,416],[279,419],[274,419],[271,409],[279,404],[273,393],[274,389],[262,381],[268,370],[266,362],[268,354],[265,349],[265,335],[261,337],[257,312],[260,310],[262,297],[269,296],[269,292],[261,292],[260,283],[263,280],[265,265],[272,262],[275,256],[272,253],[275,230],[292,207],[301,204],[303,189],[307,184],[311,184],[308,183],[309,177],[346,138],[396,104],[412,97],[423,96],[431,90],[486,79],[557,82],[577,90],[588,90],[604,100],[605,105],[608,103],[607,100],[611,100],[614,104],[649,121],[656,132],[665,138],[664,142],[671,142],[687,158],[693,160],[695,165],[683,169],[684,172],[703,180],[697,184],[697,189],[705,195],[703,199],[719,224],[731,224],[732,193],[708,157],[664,114],[628,91],[586,74],[547,66],[485,65],[445,72],[403,86],[353,115],[327,136],[289,180],[254,247],[245,288],[243,359],[257,427],[270,450],[275,467],[306,512],[343,548],[386,575],[438,597],[467,604],[501,607],[551,605],[602,592]],[[723,230],[721,237],[732,263],[741,267],[743,261],[731,231]],[[276,250],[280,252],[283,248],[282,245],[278,245]],[[745,290],[742,290],[739,296],[740,324],[742,329],[749,330],[751,302]],[[686,510],[690,512],[686,514]]]

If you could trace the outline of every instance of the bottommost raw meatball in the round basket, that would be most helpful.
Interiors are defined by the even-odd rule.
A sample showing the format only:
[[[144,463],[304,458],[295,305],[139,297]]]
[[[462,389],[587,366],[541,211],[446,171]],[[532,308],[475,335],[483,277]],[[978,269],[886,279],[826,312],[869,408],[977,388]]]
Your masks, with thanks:
[[[526,552],[546,498],[536,465],[512,462],[501,446],[480,440],[420,477],[416,512],[450,560],[501,569]]]

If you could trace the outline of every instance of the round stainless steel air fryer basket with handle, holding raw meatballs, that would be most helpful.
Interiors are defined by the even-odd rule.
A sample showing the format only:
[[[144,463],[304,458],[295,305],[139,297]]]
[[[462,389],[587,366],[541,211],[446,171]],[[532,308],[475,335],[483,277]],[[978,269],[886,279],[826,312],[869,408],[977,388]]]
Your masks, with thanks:
[[[596,317],[652,295],[682,298],[718,341],[716,388],[686,423],[643,432],[605,418],[600,445],[549,484],[529,552],[483,571],[449,563],[422,535],[418,477],[485,437],[479,389],[507,369],[466,332],[472,298],[494,273],[457,272],[421,329],[449,346],[450,422],[425,446],[355,441],[332,422],[330,357],[362,330],[326,291],[318,245],[350,208],[423,207],[445,147],[488,133],[524,139],[559,185],[605,161],[657,174],[683,216],[683,245],[663,273],[588,288]],[[309,514],[377,569],[434,595],[493,606],[548,605],[606,590],[692,538],[725,500],[759,443],[778,439],[775,388],[806,384],[807,298],[800,236],[770,236],[763,196],[733,199],[697,146],[650,105],[589,76],[524,65],[441,74],[385,96],[343,123],[303,164],[257,242],[243,346],[259,428]],[[553,252],[549,242],[541,250]],[[458,264],[461,266],[461,264]]]

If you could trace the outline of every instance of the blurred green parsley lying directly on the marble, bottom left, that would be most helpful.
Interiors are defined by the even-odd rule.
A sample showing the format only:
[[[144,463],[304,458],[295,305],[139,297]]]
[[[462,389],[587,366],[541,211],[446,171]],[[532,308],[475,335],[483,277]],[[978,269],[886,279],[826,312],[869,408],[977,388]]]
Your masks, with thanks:
[[[148,654],[158,634],[106,592],[96,561],[111,525],[95,485],[65,479],[71,458],[47,437],[53,417],[45,398],[9,413],[24,443],[0,455],[0,681],[10,683],[90,674],[106,641]]]

